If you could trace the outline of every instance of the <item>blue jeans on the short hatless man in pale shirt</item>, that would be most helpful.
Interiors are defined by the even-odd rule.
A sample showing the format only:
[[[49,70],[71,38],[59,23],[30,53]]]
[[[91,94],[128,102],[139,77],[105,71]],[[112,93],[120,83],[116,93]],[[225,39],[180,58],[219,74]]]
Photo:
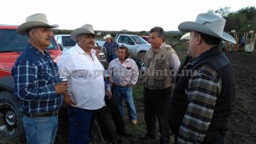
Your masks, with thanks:
[[[124,104],[123,98],[127,104],[130,120],[137,120],[136,109],[132,99],[132,86],[114,86],[113,95],[118,103],[118,108],[122,117],[124,118]]]

